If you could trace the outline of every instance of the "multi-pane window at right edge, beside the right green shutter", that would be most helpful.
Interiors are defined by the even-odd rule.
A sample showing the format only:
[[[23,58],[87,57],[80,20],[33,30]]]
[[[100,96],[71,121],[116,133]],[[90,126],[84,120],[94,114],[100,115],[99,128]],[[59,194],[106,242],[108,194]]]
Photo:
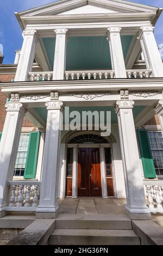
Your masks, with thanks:
[[[163,137],[160,131],[148,131],[156,175],[163,175]]]

